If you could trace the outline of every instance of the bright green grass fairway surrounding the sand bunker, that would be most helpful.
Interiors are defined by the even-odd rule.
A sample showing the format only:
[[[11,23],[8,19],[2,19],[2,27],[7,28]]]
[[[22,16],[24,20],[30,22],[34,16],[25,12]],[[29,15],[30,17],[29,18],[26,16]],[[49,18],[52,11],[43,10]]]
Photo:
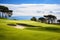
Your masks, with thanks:
[[[17,25],[16,23],[33,25],[36,28],[17,29],[14,26],[7,25]],[[0,19],[0,40],[60,40],[60,25],[30,20]]]

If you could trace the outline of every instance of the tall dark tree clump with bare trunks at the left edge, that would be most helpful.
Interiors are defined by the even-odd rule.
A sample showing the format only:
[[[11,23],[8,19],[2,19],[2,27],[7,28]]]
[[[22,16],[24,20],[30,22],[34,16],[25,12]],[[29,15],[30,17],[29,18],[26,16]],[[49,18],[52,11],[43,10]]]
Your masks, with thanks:
[[[4,16],[5,15],[5,16]],[[12,15],[12,10],[9,10],[8,7],[0,5],[0,17],[7,18]]]

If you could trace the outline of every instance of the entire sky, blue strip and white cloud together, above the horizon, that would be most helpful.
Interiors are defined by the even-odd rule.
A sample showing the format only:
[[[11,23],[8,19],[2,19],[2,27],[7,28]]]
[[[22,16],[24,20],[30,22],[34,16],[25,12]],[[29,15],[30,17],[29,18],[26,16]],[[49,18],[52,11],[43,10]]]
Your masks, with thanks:
[[[0,0],[13,10],[13,16],[43,16],[52,14],[60,19],[60,0]]]

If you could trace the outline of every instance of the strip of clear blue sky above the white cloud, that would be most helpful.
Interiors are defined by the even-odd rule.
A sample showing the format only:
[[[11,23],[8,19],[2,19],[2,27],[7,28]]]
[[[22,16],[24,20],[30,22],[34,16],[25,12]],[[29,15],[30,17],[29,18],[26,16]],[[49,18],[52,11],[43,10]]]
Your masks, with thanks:
[[[3,4],[60,4],[60,0],[0,0]]]

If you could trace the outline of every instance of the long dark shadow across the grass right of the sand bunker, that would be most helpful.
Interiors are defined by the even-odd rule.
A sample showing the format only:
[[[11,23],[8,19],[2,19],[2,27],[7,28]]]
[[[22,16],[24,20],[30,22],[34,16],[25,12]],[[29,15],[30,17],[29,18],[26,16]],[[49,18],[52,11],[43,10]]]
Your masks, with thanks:
[[[37,30],[37,31],[51,31],[51,32],[60,33],[60,28],[56,28],[56,27],[37,27],[37,28],[26,28],[26,29]]]

